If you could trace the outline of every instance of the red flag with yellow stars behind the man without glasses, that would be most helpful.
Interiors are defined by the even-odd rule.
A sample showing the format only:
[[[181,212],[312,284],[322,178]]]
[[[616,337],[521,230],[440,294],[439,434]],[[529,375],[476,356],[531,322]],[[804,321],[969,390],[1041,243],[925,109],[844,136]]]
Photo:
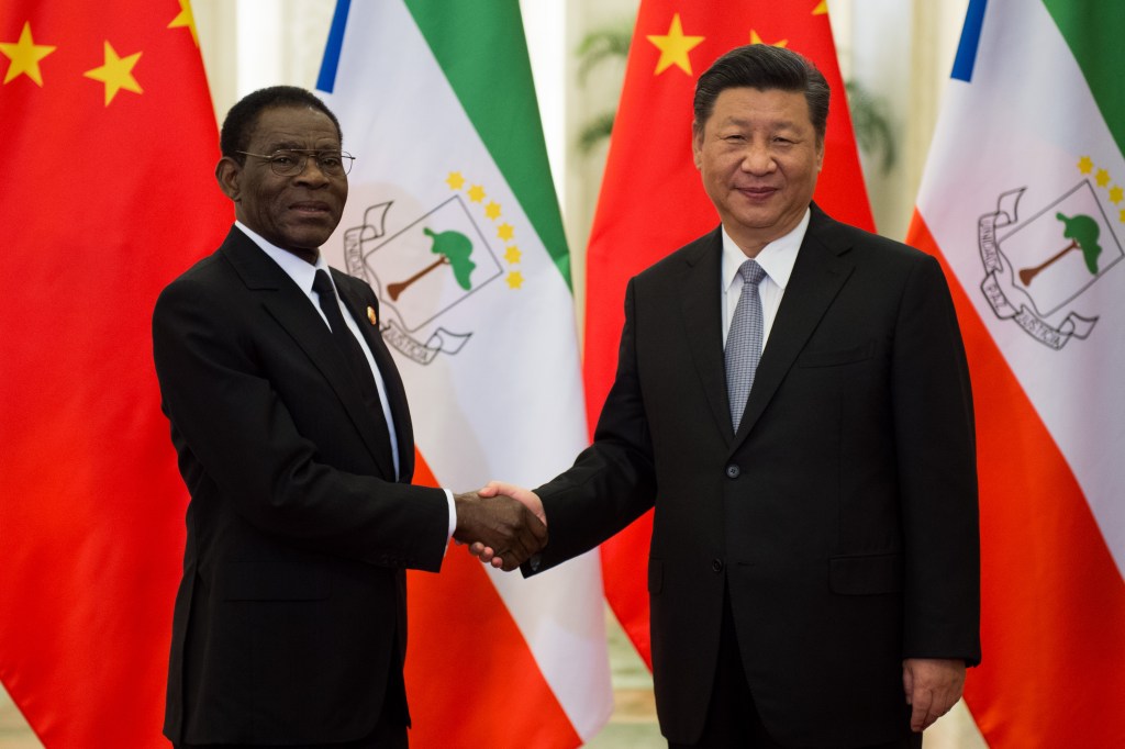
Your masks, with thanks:
[[[616,370],[627,281],[719,223],[692,162],[692,97],[716,58],[752,42],[800,52],[825,74],[832,106],[816,200],[837,219],[874,228],[826,2],[644,0],[586,260],[591,425]],[[602,545],[605,596],[650,668],[645,565],[651,529],[647,515]]]

